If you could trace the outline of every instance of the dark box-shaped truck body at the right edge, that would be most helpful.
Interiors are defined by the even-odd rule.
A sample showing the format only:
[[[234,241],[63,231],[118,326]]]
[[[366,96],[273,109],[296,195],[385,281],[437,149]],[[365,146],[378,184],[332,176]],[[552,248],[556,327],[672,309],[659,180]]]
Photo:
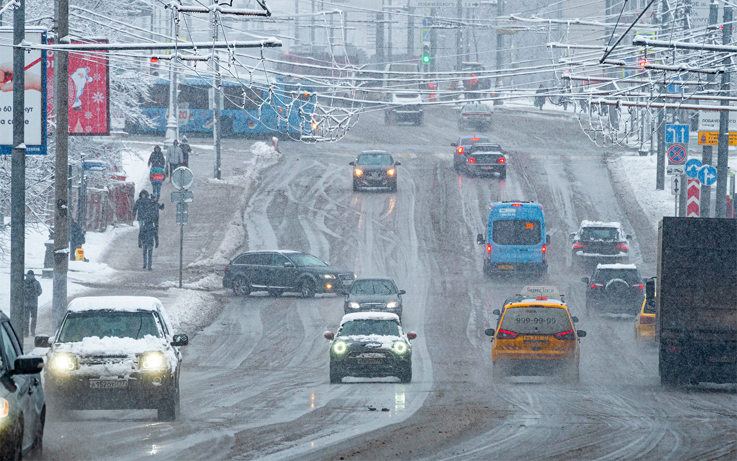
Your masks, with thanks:
[[[664,217],[655,299],[660,382],[737,382],[737,220]]]

